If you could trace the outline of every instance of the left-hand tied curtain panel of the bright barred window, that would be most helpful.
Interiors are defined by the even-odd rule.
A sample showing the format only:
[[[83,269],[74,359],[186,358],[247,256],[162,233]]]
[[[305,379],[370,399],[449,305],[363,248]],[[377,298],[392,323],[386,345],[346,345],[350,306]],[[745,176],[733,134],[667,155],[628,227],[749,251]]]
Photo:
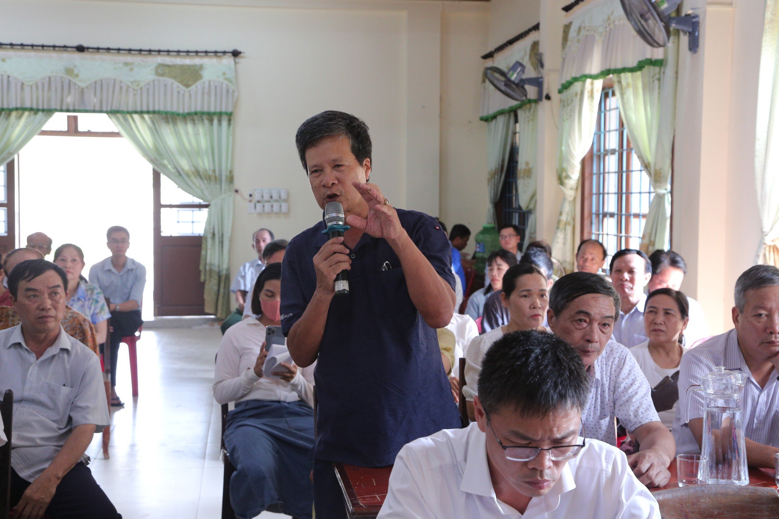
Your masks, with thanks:
[[[576,189],[579,187],[581,161],[592,146],[597,121],[597,103],[601,99],[603,79],[574,82],[560,95],[560,128],[557,134],[557,183],[564,198],[560,206],[552,251],[566,272],[573,272],[576,256],[574,223]]]

